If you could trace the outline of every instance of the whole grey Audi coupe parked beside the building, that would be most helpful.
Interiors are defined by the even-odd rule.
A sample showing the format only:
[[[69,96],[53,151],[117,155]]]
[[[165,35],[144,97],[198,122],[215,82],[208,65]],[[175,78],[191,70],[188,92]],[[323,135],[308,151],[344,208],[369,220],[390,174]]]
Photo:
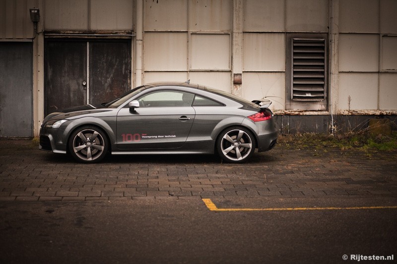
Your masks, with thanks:
[[[188,83],[145,84],[103,106],[49,114],[41,150],[84,163],[107,154],[218,154],[241,163],[274,147],[278,132],[270,101],[254,103]]]

